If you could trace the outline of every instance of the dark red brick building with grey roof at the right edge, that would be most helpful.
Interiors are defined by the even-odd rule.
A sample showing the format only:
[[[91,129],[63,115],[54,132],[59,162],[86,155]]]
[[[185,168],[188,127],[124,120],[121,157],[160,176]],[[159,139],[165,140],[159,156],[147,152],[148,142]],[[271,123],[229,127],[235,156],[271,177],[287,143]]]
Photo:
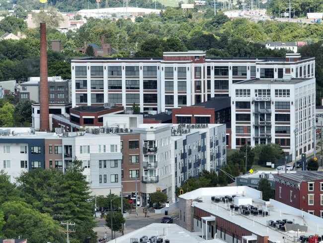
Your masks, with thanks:
[[[275,200],[323,218],[323,172],[274,174]]]

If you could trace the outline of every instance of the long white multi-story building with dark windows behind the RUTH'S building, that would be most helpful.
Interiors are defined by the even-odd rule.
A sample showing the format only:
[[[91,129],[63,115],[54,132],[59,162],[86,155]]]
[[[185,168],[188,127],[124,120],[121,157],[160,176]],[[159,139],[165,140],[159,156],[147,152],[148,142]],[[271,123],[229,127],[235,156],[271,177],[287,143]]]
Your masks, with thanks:
[[[206,58],[204,51],[164,52],[163,58],[85,58],[72,61],[73,107],[115,103],[165,112],[229,96],[234,83],[315,76],[315,59]],[[75,93],[74,93],[75,91]]]

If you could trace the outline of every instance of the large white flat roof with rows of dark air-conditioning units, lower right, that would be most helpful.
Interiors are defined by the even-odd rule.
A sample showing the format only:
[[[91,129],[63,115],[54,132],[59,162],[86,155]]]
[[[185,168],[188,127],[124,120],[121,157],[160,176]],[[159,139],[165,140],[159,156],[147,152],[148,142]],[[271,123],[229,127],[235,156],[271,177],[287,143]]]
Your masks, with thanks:
[[[231,203],[219,202],[215,203],[211,200],[211,196],[233,196],[235,195],[238,199],[245,201],[249,200],[254,207],[258,209],[267,210],[268,216],[263,217],[262,215],[243,215],[240,210],[235,213],[230,210]],[[282,237],[289,242],[294,242],[294,237],[298,235],[322,235],[323,233],[323,219],[320,217],[311,215],[302,210],[290,207],[286,204],[277,202],[270,199],[270,202],[261,200],[258,196],[260,192],[248,188],[246,186],[234,186],[234,187],[221,187],[221,188],[200,188],[195,191],[185,193],[180,198],[186,200],[192,200],[192,206],[202,209],[210,214],[213,214],[216,218],[221,217],[226,219],[240,227],[251,231],[252,233],[259,236],[268,236],[272,242],[282,242]],[[251,204],[249,204],[251,205]],[[293,221],[295,224],[306,225],[308,227],[307,232],[284,232],[279,231],[274,227],[268,227],[268,221],[287,219]]]

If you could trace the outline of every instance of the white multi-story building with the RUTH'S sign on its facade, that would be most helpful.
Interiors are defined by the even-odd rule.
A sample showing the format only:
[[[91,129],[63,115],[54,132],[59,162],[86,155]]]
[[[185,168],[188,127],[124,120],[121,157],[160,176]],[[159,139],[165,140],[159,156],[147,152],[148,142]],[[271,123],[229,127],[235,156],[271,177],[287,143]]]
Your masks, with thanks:
[[[250,79],[232,85],[232,148],[280,144],[300,157],[314,149],[315,78]]]

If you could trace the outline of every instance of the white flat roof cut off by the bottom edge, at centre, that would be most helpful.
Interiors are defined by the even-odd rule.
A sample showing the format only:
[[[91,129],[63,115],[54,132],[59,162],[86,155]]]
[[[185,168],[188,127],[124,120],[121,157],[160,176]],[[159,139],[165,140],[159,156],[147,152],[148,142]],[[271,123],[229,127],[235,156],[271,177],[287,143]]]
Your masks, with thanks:
[[[197,242],[205,242],[204,239],[197,236],[196,234],[185,230],[184,228],[176,225],[176,224],[151,224],[145,226],[139,230],[128,233],[124,236],[118,237],[108,243],[130,243],[131,239],[137,238],[138,242],[140,242],[140,238],[143,236],[147,236],[148,239],[152,236],[156,236],[158,238],[162,238],[163,241],[169,240],[171,243],[175,242],[185,242],[185,243],[197,243]],[[218,241],[223,243],[223,241]]]

